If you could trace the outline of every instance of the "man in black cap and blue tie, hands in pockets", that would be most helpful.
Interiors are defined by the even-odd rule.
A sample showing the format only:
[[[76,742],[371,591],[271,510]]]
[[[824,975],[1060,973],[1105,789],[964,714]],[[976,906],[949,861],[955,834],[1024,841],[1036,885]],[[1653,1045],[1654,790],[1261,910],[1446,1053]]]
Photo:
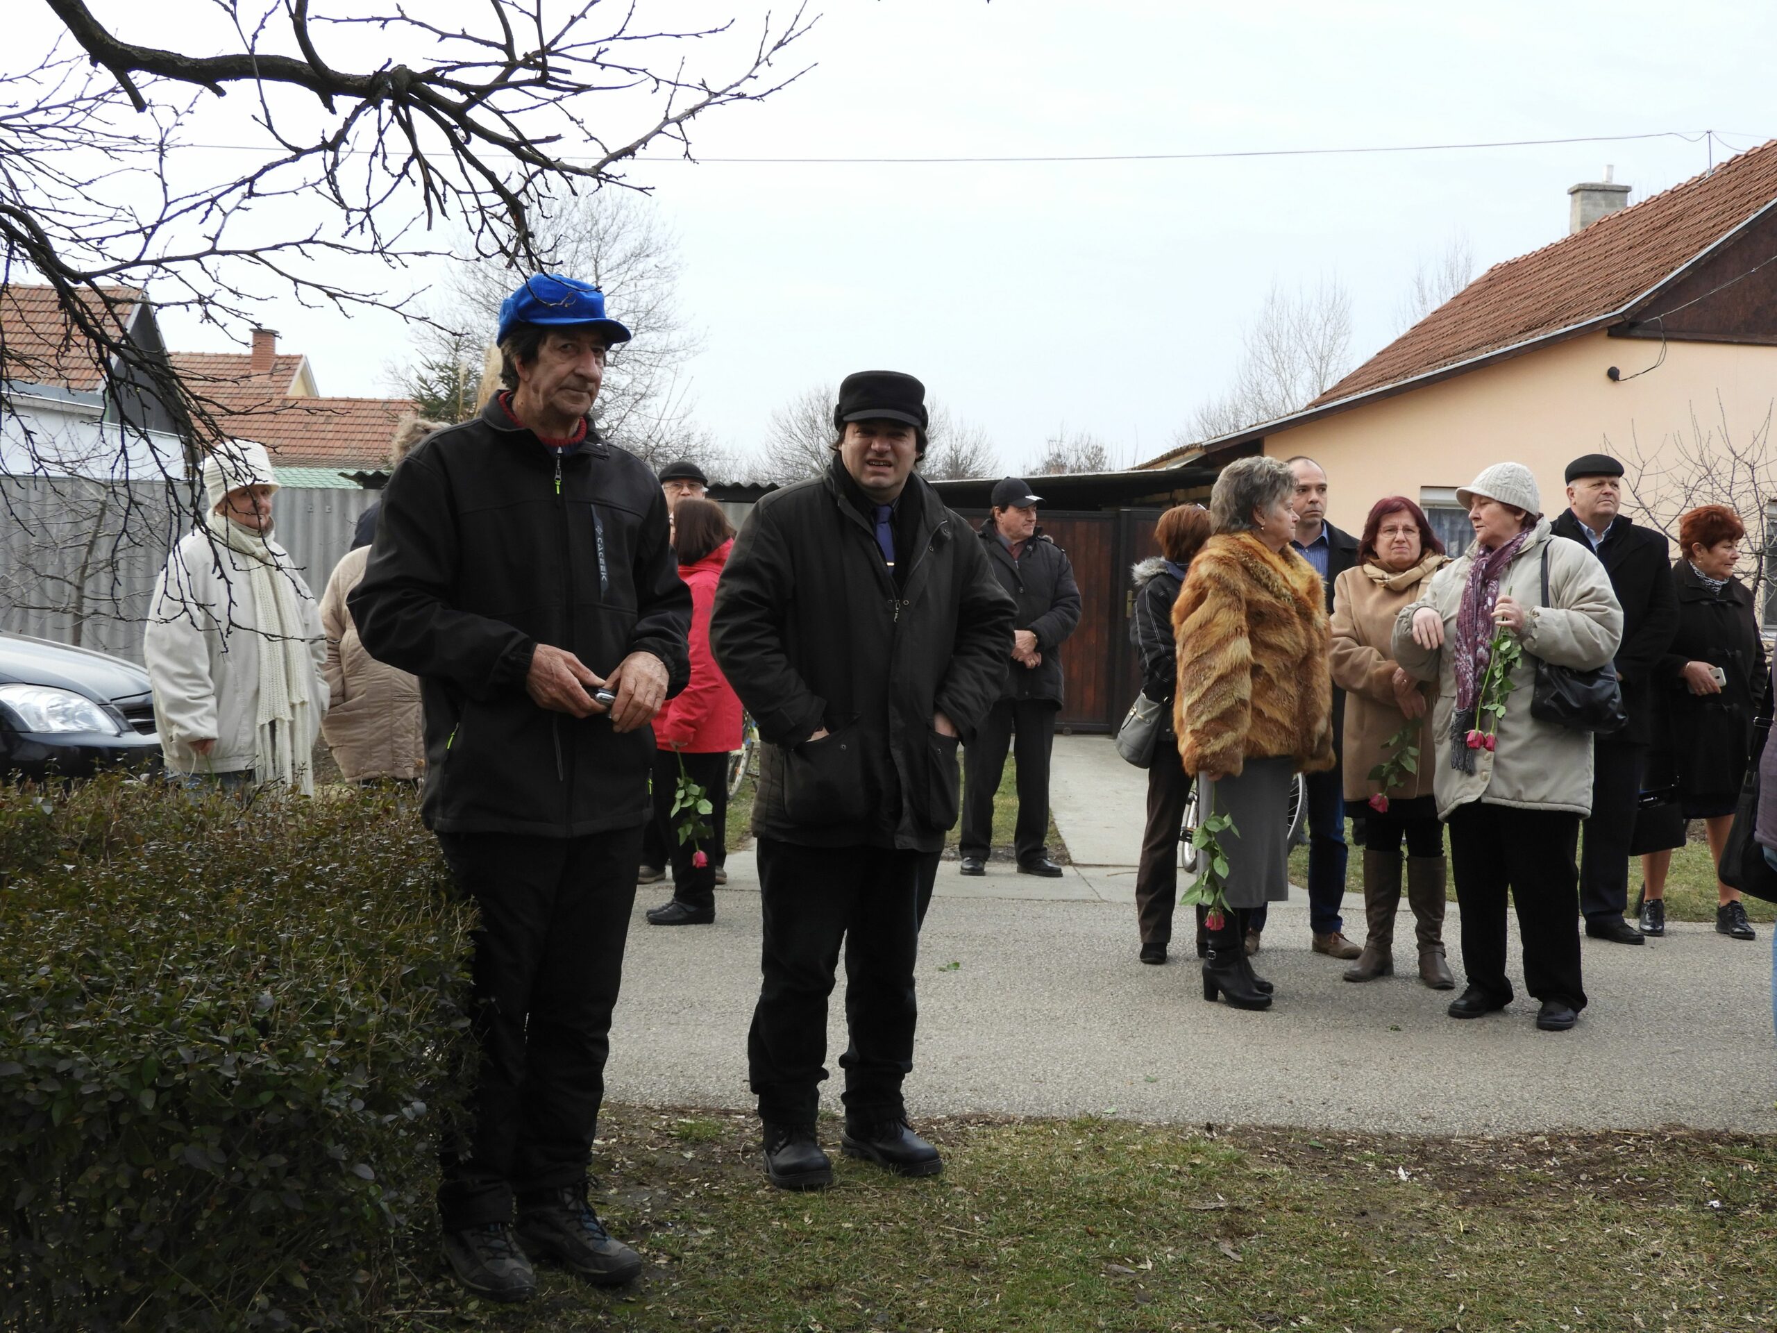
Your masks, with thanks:
[[[753,835],[764,981],[746,1038],[766,1175],[832,1184],[816,1141],[826,997],[846,951],[848,1157],[933,1175],[906,1123],[919,883],[956,823],[960,739],[999,698],[1013,604],[967,519],[913,473],[926,389],[839,386],[828,471],[748,515],[716,588],[711,649],[764,739]]]

